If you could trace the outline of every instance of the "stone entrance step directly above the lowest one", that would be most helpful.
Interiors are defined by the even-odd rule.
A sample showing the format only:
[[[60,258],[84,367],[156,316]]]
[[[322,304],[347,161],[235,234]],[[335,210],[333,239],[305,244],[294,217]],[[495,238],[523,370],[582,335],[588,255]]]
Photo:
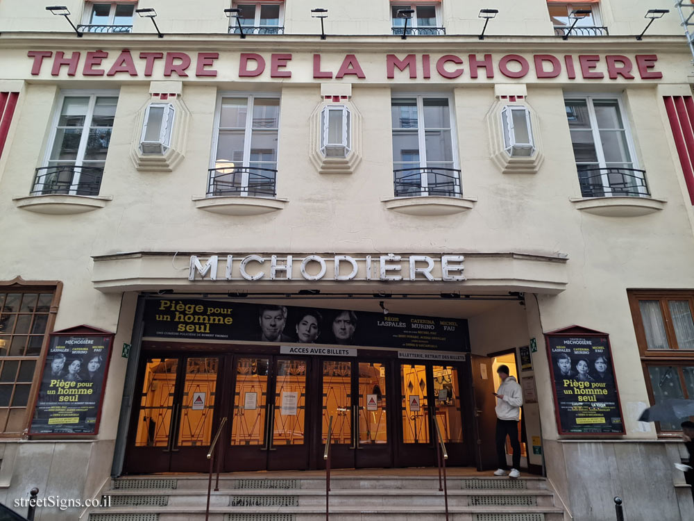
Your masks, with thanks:
[[[112,506],[205,506],[206,490],[110,490]],[[449,490],[451,506],[553,506],[554,495],[549,490]],[[344,489],[330,492],[335,506],[440,505],[443,492],[439,490],[403,489]],[[315,506],[325,504],[325,490],[220,490],[212,491],[214,506]]]

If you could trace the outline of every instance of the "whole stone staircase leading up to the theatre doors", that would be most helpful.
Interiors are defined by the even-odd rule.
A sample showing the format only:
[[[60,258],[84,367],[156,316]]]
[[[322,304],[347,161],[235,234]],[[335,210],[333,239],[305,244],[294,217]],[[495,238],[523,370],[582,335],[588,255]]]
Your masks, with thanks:
[[[341,470],[330,478],[330,521],[443,521],[436,469]],[[115,479],[110,506],[87,521],[203,521],[208,478],[160,474]],[[547,481],[509,479],[450,469],[450,521],[563,521]],[[325,473],[222,474],[212,492],[210,521],[323,521]]]

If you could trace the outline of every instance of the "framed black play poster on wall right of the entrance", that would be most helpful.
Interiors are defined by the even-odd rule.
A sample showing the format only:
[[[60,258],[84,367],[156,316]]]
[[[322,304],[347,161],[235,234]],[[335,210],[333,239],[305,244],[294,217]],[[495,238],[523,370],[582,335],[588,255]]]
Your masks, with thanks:
[[[609,335],[570,326],[545,340],[559,434],[624,434]]]

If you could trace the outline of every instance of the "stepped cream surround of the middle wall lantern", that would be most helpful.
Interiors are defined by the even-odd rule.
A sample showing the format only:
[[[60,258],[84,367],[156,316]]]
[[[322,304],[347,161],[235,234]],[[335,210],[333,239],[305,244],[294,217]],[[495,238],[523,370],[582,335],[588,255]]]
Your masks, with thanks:
[[[335,90],[335,95],[326,94]],[[309,158],[319,174],[353,174],[362,160],[362,115],[351,101],[351,85],[336,87],[332,83],[321,86],[321,102],[309,117]],[[350,115],[349,145],[344,157],[330,157],[323,153],[323,111],[342,107]]]

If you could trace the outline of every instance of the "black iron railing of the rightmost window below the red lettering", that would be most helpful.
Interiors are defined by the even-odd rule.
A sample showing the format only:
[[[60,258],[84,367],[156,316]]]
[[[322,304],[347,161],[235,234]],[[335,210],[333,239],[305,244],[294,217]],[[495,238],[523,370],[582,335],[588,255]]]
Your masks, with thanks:
[[[636,168],[578,166],[583,197],[650,197],[645,174]]]

